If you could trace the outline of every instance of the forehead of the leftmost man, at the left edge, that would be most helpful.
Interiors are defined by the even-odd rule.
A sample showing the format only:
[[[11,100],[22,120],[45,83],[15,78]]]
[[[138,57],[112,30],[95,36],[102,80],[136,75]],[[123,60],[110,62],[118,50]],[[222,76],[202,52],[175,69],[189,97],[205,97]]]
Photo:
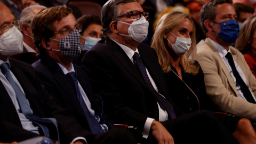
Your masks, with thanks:
[[[4,4],[0,3],[0,26],[2,26],[4,22],[12,22],[13,20],[14,16],[10,10]]]

